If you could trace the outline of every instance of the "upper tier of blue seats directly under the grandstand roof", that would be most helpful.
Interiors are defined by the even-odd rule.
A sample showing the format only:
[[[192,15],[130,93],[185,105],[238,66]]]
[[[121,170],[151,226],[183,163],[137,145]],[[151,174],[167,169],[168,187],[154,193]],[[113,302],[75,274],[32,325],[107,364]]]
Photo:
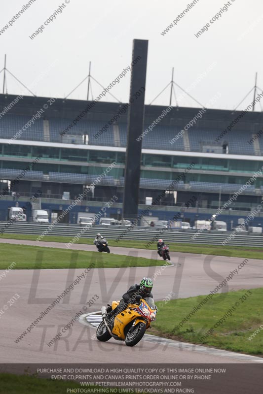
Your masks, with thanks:
[[[167,115],[169,116],[169,115]],[[14,135],[32,119],[33,115],[9,115],[6,114],[0,119],[0,137],[1,138],[12,138]],[[71,140],[63,141],[63,137],[60,133],[63,131],[65,135],[79,135],[88,134],[89,145],[99,146],[115,146],[120,143],[121,147],[126,147],[127,143],[127,123],[119,123],[119,141],[115,141],[113,126],[108,125],[108,129],[102,134],[96,134],[108,123],[106,121],[97,120],[86,120],[80,119],[75,125],[73,125],[72,118],[46,118],[49,125],[49,136],[48,129],[44,134],[43,118],[36,119],[30,127],[28,127],[21,134],[19,140],[33,140],[33,141],[44,141],[50,142],[66,142],[71,143]],[[185,121],[187,122],[187,120]],[[216,124],[216,121],[214,122]],[[223,125],[223,122],[220,122]],[[181,129],[184,128],[185,123],[182,119],[182,125],[180,126],[163,126],[161,123],[154,126],[151,131],[148,131],[150,124],[145,124],[144,131],[148,131],[142,138],[142,146],[144,149],[162,149],[171,151],[185,151],[188,149],[191,152],[210,152],[221,153],[223,152],[223,142],[228,144],[229,154],[246,154],[255,155],[254,144],[249,144],[249,140],[252,138],[253,133],[251,130],[244,131],[236,127],[227,132],[220,140],[216,139],[220,136],[220,133],[225,130],[225,126],[218,123],[218,128],[215,126],[205,129],[200,127],[190,127],[188,129],[188,141],[184,140],[185,135],[178,138],[174,143],[170,141],[178,135]],[[222,130],[221,130],[222,128]],[[115,136],[118,139],[118,135]],[[185,144],[184,144],[185,141]],[[263,138],[259,138],[259,145],[261,154],[263,154]],[[207,147],[211,145],[211,149]],[[216,150],[213,146],[217,147]],[[257,153],[258,154],[258,153]]]

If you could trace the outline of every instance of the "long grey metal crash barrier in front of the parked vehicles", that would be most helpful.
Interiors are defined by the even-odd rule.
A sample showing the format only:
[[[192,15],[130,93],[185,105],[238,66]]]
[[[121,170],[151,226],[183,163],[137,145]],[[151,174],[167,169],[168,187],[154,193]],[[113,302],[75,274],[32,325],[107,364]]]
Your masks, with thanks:
[[[0,222],[0,231],[6,226],[7,222]],[[6,233],[15,234],[33,234],[38,235],[43,233],[50,224],[37,224],[37,223],[13,223],[4,229]],[[52,231],[47,235],[62,235],[68,237],[74,237],[80,233],[83,226],[79,225],[60,225],[57,224],[53,226]],[[133,230],[128,231],[128,227],[111,227],[111,226],[94,226],[84,233],[82,233],[82,238],[95,238],[97,232],[100,232],[104,237],[109,239],[116,239],[121,234],[125,232],[125,235],[120,238],[121,240],[144,240],[149,242],[155,236],[156,238],[163,238],[165,242],[180,242],[180,243],[192,243],[192,244],[210,244],[210,245],[221,245],[231,231],[203,231],[197,235],[195,239],[192,239],[195,234],[195,230],[166,230],[161,232],[161,229],[152,229],[145,227],[137,227]],[[3,238],[2,238],[3,239]],[[157,243],[154,240],[153,245]],[[263,247],[263,234],[261,233],[238,233],[235,235],[234,239],[229,241],[227,245],[234,246],[255,246]]]

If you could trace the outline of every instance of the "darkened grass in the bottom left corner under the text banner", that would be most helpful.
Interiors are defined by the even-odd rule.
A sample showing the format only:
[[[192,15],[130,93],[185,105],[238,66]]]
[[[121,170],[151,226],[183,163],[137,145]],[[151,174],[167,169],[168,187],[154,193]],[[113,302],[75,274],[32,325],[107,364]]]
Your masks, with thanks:
[[[14,375],[11,373],[0,373],[0,394],[65,394],[67,389],[83,389],[80,384],[71,381],[39,379],[35,376]],[[99,386],[86,386],[95,389]],[[75,391],[77,393],[77,391]],[[92,393],[92,391],[90,391]],[[94,390],[94,393],[97,391]],[[115,393],[122,393],[120,390]]]

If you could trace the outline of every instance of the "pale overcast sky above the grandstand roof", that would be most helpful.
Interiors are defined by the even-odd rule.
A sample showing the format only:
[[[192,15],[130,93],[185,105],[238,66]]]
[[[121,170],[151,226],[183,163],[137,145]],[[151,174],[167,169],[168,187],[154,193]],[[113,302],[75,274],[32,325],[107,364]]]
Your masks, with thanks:
[[[69,2],[66,2],[69,1]],[[209,21],[227,3],[199,0],[176,26],[162,35],[188,7],[187,0],[36,0],[0,34],[0,70],[4,54],[7,68],[37,96],[63,98],[88,74],[103,86],[109,85],[131,63],[132,40],[148,39],[146,104],[174,80],[207,107],[233,109],[254,86],[263,89],[263,2],[229,0],[227,11],[213,24]],[[27,0],[1,0],[0,31]],[[44,22],[62,5],[56,19]],[[11,22],[12,23],[12,22]],[[195,34],[209,23],[208,31]],[[42,33],[29,37],[43,25]],[[206,75],[204,75],[206,73]],[[203,75],[203,77],[200,77]],[[3,72],[0,73],[2,93]],[[199,82],[198,82],[199,81]],[[122,102],[129,100],[130,73],[111,93]],[[92,82],[93,96],[101,87]],[[9,94],[26,94],[7,73]],[[262,90],[261,90],[262,91]],[[182,92],[176,88],[179,97]],[[86,99],[87,80],[69,97]],[[168,105],[169,90],[154,101]],[[216,100],[210,104],[213,97]],[[110,95],[106,101],[114,101]],[[253,93],[238,109],[253,100]],[[180,106],[198,106],[192,99],[179,98]],[[172,102],[176,105],[175,99]],[[262,99],[263,105],[263,99]],[[256,110],[261,111],[259,104]]]

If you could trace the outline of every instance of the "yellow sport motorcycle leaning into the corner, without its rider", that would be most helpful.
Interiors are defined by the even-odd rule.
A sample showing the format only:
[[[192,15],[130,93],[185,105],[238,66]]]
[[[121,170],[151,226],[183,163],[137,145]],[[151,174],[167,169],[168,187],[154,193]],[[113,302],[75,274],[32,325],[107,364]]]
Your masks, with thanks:
[[[118,304],[119,301],[113,301],[112,310]],[[128,304],[127,308],[115,317],[109,315],[106,307],[103,306],[102,322],[96,332],[97,339],[106,342],[113,337],[118,341],[124,341],[127,346],[135,346],[142,339],[147,328],[150,328],[150,323],[156,320],[156,312],[151,297],[142,298],[138,304]]]

